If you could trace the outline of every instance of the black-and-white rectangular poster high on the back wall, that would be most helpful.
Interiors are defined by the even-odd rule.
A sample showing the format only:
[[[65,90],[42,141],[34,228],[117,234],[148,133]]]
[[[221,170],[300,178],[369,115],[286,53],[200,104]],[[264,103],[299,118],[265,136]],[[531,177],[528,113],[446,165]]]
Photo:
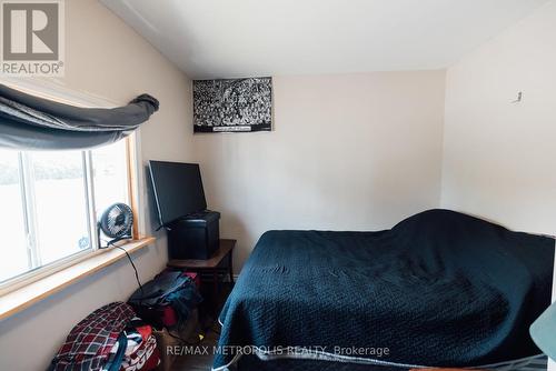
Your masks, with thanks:
[[[193,81],[195,132],[270,131],[272,79]]]

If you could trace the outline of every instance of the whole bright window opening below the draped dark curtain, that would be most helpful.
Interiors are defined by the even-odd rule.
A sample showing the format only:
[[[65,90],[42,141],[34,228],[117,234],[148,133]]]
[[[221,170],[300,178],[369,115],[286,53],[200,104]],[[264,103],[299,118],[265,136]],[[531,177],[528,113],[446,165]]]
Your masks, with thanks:
[[[0,285],[98,248],[97,219],[115,202],[129,203],[127,144],[0,150]]]

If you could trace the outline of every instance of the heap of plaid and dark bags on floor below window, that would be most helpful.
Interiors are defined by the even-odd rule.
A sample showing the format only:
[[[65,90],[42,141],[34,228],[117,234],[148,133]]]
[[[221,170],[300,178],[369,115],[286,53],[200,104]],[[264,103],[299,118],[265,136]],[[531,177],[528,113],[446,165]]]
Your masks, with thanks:
[[[195,273],[163,271],[137,290],[128,303],[97,309],[70,331],[48,370],[156,369],[161,354],[155,329],[179,331],[183,327],[201,301],[197,279]]]

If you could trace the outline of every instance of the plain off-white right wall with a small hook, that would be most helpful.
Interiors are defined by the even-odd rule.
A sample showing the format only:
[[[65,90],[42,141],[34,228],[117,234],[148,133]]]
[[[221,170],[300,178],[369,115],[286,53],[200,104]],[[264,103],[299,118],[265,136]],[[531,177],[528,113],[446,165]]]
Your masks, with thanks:
[[[556,231],[556,2],[448,69],[441,205]],[[512,103],[523,91],[522,103]]]

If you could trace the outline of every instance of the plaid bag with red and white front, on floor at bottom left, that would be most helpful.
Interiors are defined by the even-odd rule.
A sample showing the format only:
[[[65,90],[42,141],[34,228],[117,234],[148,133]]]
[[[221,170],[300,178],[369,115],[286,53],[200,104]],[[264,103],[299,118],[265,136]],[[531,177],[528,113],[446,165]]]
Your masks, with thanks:
[[[113,302],[70,331],[49,370],[149,371],[159,362],[152,328],[129,304]]]

